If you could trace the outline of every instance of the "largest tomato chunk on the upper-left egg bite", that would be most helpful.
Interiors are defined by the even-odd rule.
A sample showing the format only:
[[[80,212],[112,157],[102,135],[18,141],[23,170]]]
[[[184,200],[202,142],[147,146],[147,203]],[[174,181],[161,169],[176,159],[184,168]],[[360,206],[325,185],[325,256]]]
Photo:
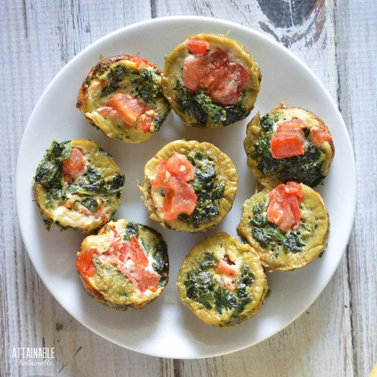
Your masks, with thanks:
[[[145,103],[139,101],[137,98],[133,98],[128,93],[114,94],[109,101],[107,101],[106,106],[113,107],[128,126],[132,126],[136,118],[144,114],[147,109]]]

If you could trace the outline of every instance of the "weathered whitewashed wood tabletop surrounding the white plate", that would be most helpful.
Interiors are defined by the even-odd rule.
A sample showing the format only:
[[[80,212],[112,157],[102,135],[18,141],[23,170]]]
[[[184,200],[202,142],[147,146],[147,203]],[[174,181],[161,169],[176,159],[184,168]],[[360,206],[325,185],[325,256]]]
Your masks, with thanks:
[[[0,11],[0,376],[368,375],[377,359],[374,2],[5,0]],[[305,61],[339,105],[358,173],[356,219],[346,254],[308,312],[256,346],[202,360],[170,360],[128,351],[73,319],[38,278],[21,240],[14,202],[14,171],[23,130],[38,98],[61,67],[115,29],[181,14],[249,26]],[[55,366],[14,366],[13,347],[43,346],[55,347]]]

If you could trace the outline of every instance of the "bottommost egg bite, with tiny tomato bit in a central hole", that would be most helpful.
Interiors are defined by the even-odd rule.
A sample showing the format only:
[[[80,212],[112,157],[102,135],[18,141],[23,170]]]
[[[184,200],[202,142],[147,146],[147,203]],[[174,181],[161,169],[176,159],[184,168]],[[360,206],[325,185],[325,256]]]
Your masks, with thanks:
[[[267,295],[267,279],[250,245],[216,233],[194,246],[179,268],[178,294],[203,322],[229,328],[253,316]]]

